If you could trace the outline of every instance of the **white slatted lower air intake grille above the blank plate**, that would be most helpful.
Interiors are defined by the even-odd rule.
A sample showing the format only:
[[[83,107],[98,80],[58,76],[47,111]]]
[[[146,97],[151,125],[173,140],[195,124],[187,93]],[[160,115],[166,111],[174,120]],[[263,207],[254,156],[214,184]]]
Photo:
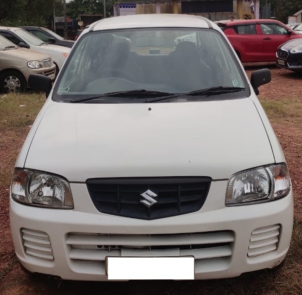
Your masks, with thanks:
[[[66,244],[74,271],[105,274],[107,256],[181,257],[194,256],[195,270],[213,271],[228,267],[232,255],[232,231],[181,234],[69,233]]]

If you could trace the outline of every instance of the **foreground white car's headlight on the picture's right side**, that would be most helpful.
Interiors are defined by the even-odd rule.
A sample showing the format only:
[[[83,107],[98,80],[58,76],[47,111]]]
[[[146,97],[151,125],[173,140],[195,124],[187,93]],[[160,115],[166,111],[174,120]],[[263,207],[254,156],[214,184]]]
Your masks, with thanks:
[[[285,197],[290,191],[287,166],[258,167],[234,174],[227,186],[226,205],[261,203]]]

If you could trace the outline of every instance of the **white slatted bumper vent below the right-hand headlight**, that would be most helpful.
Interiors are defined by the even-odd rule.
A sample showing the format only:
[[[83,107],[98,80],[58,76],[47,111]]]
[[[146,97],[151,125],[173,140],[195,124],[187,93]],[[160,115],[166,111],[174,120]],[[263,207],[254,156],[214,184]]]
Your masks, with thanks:
[[[280,224],[255,229],[249,239],[248,257],[256,257],[277,249]]]

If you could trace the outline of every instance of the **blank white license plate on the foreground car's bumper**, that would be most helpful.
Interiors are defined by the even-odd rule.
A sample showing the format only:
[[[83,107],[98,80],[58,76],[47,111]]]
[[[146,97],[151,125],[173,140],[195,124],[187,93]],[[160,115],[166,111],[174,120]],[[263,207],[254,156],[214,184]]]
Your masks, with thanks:
[[[194,279],[194,257],[106,257],[108,279]]]

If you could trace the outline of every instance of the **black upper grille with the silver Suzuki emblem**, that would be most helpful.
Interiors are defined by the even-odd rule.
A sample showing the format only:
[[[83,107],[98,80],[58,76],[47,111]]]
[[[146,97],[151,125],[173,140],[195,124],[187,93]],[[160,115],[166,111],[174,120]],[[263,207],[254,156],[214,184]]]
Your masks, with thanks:
[[[152,220],[198,211],[206,200],[211,178],[89,179],[86,184],[100,212]]]

